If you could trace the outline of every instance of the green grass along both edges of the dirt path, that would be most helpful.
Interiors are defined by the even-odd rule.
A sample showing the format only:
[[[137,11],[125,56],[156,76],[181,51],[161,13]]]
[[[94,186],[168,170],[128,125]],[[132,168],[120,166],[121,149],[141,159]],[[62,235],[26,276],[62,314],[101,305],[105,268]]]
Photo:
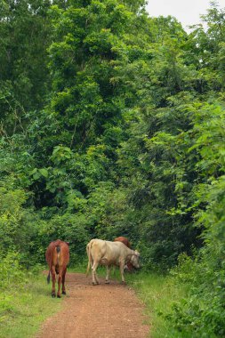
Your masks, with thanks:
[[[70,268],[68,272],[85,273],[85,269],[81,265],[76,269]],[[100,268],[99,274],[105,276],[105,268]],[[119,271],[116,270],[111,278],[120,280]],[[145,305],[151,338],[189,338],[166,319],[172,303],[185,296],[185,286],[174,283],[172,277],[151,272],[126,273],[125,279]],[[47,285],[43,273],[30,274],[25,285],[13,286],[0,294],[1,338],[35,337],[44,320],[61,309],[62,300],[51,297],[51,285]]]

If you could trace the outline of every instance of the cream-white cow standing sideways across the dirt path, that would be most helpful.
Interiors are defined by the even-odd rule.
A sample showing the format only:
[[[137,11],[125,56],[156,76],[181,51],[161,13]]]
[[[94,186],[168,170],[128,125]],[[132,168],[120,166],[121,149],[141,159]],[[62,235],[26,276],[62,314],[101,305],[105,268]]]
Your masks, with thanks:
[[[96,270],[99,265],[106,265],[107,275],[106,283],[108,282],[110,267],[117,265],[120,268],[122,282],[125,283],[125,264],[131,262],[134,268],[140,268],[139,258],[140,254],[135,250],[129,249],[122,242],[109,242],[107,240],[92,239],[86,246],[86,252],[88,256],[88,265],[86,270],[86,276],[92,265],[92,285],[99,284]]]

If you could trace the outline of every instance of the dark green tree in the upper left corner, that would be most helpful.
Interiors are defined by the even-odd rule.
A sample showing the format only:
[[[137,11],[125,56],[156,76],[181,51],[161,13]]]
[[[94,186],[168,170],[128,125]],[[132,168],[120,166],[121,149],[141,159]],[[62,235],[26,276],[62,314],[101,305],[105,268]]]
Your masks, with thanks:
[[[47,68],[49,0],[3,1],[0,12],[0,110],[3,132],[23,132],[28,110],[44,106],[50,88]]]

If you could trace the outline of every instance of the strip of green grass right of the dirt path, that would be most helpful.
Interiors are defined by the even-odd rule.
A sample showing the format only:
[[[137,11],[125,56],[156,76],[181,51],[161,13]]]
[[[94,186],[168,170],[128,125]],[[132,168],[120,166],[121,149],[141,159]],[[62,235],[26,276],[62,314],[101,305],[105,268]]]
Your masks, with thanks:
[[[147,324],[151,327],[151,338],[189,337],[189,335],[177,331],[173,327],[173,323],[166,318],[172,312],[173,302],[181,301],[187,294],[187,286],[175,283],[173,277],[156,273],[126,274],[125,278],[146,306],[145,314]]]

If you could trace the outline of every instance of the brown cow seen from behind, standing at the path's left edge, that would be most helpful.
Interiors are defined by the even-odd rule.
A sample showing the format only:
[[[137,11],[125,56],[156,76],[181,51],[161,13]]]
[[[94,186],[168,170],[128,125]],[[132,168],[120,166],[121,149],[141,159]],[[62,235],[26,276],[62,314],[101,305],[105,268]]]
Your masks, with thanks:
[[[49,266],[49,274],[47,277],[48,283],[50,283],[50,272],[52,274],[52,297],[55,297],[55,280],[56,274],[59,274],[58,278],[58,293],[57,297],[60,298],[60,285],[62,284],[62,294],[66,294],[65,289],[65,277],[69,261],[69,248],[68,243],[63,242],[60,239],[50,243],[46,250],[46,262]]]

